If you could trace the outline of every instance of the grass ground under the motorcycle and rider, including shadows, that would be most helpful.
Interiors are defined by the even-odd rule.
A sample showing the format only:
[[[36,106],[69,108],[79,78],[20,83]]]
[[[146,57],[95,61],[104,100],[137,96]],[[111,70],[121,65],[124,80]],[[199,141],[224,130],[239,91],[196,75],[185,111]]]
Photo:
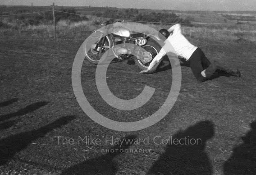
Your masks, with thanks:
[[[183,26],[183,34],[202,48],[210,61],[239,68],[241,78],[222,74],[197,83],[189,64],[181,63],[180,94],[168,115],[146,129],[121,132],[92,121],[72,89],[72,64],[80,45],[99,28],[93,24],[60,21],[56,40],[50,25],[1,29],[0,174],[256,174],[254,25]],[[122,111],[100,97],[95,70],[95,65],[84,61],[84,94],[96,111],[120,122],[138,121],[155,113],[172,84],[172,68],[166,60],[158,72],[146,75],[140,75],[131,61],[110,64],[107,83],[118,98],[132,99],[145,85],[156,89],[142,107]],[[81,141],[85,136],[94,141]],[[199,142],[161,144],[169,137]],[[111,145],[112,138],[145,142]],[[100,140],[98,145],[95,139]],[[129,152],[120,153],[125,149]]]

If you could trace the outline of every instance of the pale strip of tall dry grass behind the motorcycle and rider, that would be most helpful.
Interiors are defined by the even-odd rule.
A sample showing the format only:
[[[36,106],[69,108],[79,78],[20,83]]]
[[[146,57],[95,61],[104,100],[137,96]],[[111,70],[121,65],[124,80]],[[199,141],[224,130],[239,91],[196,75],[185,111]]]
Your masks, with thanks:
[[[85,32],[93,31],[102,26],[99,24],[101,21],[89,20],[80,22],[70,22],[68,20],[61,20],[56,24],[58,37],[81,37]],[[10,24],[15,26],[14,23]],[[161,28],[169,28],[171,25],[156,25],[146,24],[151,28],[160,30]],[[196,25],[194,27],[183,26],[183,34],[188,38],[208,38],[218,41],[234,41],[237,39],[244,39],[248,41],[256,41],[256,29],[254,24],[216,24],[216,25]],[[19,29],[7,28],[1,29],[1,36],[20,36],[31,35],[33,37],[53,37],[53,27],[50,24],[41,24],[38,26],[20,26]]]

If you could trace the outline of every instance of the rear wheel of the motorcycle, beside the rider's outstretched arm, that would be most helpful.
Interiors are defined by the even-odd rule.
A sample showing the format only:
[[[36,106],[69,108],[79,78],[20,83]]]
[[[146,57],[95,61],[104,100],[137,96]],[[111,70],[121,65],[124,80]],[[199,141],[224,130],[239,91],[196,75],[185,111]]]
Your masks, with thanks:
[[[159,44],[153,40],[148,40],[147,44],[142,46],[142,48],[150,53],[149,55],[152,56],[152,59],[154,59],[156,57],[156,55],[159,53],[159,51],[161,50],[161,47],[159,46]],[[141,60],[134,58],[134,62],[140,70],[146,70],[148,68],[149,64],[151,63],[151,61],[145,63],[145,62],[142,62]],[[154,69],[156,69],[157,67],[158,66],[156,65],[154,67]],[[155,70],[152,70],[152,71],[155,71]]]

